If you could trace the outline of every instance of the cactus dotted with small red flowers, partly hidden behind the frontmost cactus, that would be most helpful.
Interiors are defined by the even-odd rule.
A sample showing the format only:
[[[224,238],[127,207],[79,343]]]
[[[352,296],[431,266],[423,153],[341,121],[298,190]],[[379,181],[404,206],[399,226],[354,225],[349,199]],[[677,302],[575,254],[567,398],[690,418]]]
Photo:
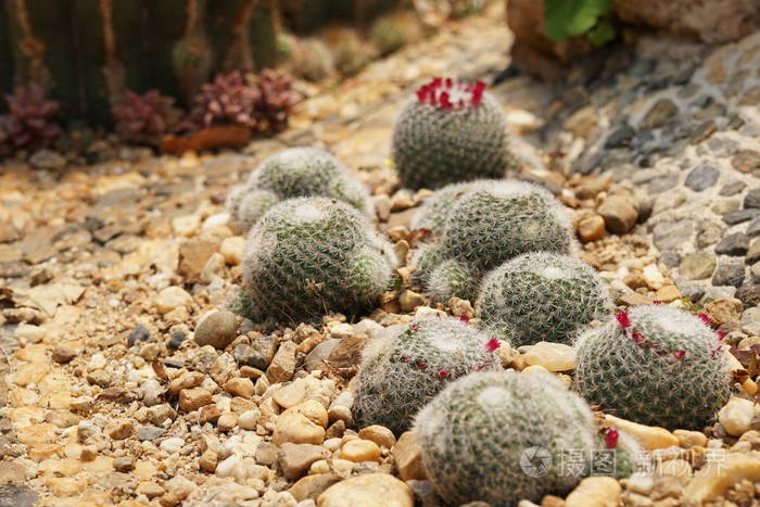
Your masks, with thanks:
[[[501,370],[501,342],[453,317],[413,320],[364,352],[354,418],[362,426],[406,431],[414,416],[449,382],[478,370]]]

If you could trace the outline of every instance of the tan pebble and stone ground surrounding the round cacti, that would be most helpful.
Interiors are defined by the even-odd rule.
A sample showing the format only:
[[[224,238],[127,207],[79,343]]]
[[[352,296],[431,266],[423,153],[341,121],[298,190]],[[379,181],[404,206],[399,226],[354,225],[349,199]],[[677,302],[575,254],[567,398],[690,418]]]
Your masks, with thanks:
[[[506,68],[502,3],[334,90],[314,89],[291,129],[244,153],[125,149],[59,172],[7,164],[0,505],[359,506],[378,505],[379,495],[411,505],[413,494],[436,505],[414,440],[382,427],[359,431],[349,408],[362,347],[383,327],[436,310],[425,294],[402,288],[360,322],[334,316],[269,334],[238,328],[226,313],[205,316],[239,284],[244,239],[228,224],[227,192],[286,147],[331,149],[371,189],[396,252],[408,250],[409,216],[429,192],[397,190],[393,119],[428,77],[492,80]],[[570,76],[552,88],[517,77],[494,88],[524,162],[515,176],[575,210],[585,259],[620,306],[700,305],[748,348],[760,333],[760,37],[709,58],[702,48],[644,41],[625,58],[617,74],[601,69],[585,83]],[[455,303],[440,309],[472,316],[469,303]],[[512,367],[530,355],[571,375],[567,347],[521,352]],[[668,447],[657,473],[592,480],[588,495],[750,505],[759,428],[742,402],[706,434],[636,426],[647,448]],[[709,449],[729,456],[724,469],[705,467]],[[704,477],[692,480],[694,471]],[[588,495],[567,505],[588,505]]]

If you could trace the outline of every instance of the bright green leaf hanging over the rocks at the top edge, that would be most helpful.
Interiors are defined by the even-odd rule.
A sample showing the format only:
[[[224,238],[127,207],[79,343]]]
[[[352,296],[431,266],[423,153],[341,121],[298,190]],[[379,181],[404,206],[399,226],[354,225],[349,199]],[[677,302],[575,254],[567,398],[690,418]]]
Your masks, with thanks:
[[[544,0],[544,25],[552,40],[585,34],[612,9],[612,0]]]

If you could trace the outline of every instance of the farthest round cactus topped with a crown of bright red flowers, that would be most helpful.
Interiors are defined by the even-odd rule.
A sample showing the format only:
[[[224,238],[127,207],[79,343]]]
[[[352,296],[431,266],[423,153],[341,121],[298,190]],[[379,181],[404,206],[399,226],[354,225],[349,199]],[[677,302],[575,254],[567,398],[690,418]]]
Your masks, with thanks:
[[[484,89],[481,81],[435,78],[417,90],[393,130],[393,160],[405,187],[504,176],[504,113]]]

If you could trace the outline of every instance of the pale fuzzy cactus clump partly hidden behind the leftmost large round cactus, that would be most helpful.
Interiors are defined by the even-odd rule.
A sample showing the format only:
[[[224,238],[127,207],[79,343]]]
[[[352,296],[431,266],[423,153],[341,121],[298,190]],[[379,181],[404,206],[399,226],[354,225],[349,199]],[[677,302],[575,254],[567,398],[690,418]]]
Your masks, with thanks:
[[[230,215],[248,231],[274,204],[292,198],[325,197],[369,214],[367,189],[330,153],[291,148],[264,160],[249,182],[232,191]]]

